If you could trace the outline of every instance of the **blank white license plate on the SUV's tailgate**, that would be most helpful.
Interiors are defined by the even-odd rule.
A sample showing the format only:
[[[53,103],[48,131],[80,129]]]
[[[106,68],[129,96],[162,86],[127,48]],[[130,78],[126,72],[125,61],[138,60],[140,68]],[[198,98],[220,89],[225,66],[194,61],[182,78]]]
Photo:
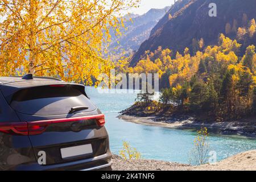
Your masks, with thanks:
[[[60,148],[61,157],[63,159],[72,158],[80,155],[92,154],[92,144],[84,144],[82,146]]]

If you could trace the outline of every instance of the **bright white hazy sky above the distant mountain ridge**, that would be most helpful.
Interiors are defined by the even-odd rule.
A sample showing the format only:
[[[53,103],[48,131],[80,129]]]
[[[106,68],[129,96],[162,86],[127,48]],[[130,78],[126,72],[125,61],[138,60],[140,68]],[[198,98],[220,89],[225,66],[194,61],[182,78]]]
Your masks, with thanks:
[[[161,9],[166,6],[171,6],[174,0],[141,0],[141,6],[138,9],[131,10],[130,13],[144,14],[152,8]]]

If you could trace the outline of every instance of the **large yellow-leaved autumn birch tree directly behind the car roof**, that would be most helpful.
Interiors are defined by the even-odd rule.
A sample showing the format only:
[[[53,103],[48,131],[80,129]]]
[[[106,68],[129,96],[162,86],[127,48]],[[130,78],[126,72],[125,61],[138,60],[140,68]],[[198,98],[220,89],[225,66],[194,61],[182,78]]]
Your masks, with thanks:
[[[118,17],[138,2],[0,0],[0,75],[29,72],[92,84],[112,67],[100,53],[110,28],[118,34]]]

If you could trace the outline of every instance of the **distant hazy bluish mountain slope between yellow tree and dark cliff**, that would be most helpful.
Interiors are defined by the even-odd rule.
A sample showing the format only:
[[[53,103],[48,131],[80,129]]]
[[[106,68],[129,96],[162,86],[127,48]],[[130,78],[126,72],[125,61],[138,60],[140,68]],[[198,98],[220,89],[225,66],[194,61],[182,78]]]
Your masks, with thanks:
[[[108,49],[115,51],[115,54],[129,49],[137,51],[141,43],[149,37],[151,29],[169,9],[170,7],[167,6],[164,9],[151,9],[143,15],[126,15],[124,23],[126,30],[121,30],[122,36],[119,38],[112,33],[113,41]]]

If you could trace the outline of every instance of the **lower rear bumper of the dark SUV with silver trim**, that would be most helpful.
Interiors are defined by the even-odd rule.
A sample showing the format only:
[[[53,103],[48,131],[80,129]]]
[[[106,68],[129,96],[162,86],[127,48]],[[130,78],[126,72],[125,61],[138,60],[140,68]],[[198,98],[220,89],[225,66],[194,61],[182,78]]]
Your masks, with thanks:
[[[17,171],[92,171],[92,170],[111,170],[112,154],[108,151],[104,155],[94,158],[77,160],[74,162],[52,164],[42,166],[38,163],[22,164],[12,168]]]

